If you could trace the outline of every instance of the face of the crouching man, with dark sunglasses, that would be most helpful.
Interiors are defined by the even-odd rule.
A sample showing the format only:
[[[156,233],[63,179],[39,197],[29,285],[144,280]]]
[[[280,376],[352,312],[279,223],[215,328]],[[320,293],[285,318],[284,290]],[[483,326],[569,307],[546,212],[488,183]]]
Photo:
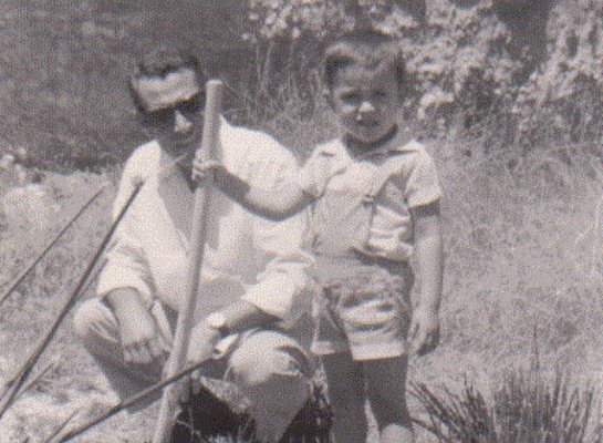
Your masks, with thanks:
[[[143,125],[180,163],[195,156],[202,132],[204,93],[196,73],[180,69],[166,76],[143,76],[134,87],[146,110]]]

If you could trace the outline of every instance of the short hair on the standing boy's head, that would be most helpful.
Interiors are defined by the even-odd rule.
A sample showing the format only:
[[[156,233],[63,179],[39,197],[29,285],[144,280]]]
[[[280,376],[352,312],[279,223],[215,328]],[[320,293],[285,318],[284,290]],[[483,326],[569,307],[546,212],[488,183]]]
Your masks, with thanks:
[[[405,89],[406,62],[397,40],[383,32],[364,29],[344,34],[326,48],[323,81],[331,90],[339,70],[354,64],[377,70],[393,70],[401,92]]]

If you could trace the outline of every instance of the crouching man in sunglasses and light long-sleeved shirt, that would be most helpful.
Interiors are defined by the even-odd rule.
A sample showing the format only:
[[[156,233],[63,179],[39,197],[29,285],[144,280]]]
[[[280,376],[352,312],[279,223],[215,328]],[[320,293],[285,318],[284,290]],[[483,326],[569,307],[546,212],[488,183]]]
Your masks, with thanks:
[[[194,205],[191,162],[202,131],[204,81],[198,61],[159,48],[132,75],[129,89],[153,138],[122,175],[114,218],[144,185],[116,230],[97,298],[75,313],[75,330],[122,399],[157,382],[185,298]],[[270,136],[220,121],[217,156],[247,181],[277,186],[292,155]],[[278,441],[309,396],[312,365],[303,342],[303,218],[274,224],[215,190],[210,198],[197,320],[189,362],[237,384],[251,400],[257,437]]]

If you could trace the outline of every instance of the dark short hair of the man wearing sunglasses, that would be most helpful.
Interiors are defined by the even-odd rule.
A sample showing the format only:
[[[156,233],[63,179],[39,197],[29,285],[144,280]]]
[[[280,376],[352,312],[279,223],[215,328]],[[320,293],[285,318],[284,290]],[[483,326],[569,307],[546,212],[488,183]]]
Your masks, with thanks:
[[[137,62],[133,72],[129,75],[127,86],[136,110],[145,113],[144,102],[138,91],[134,86],[135,81],[143,76],[159,76],[165,78],[171,72],[181,69],[190,69],[202,86],[202,70],[199,60],[191,53],[181,48],[159,45],[153,51],[144,54]]]

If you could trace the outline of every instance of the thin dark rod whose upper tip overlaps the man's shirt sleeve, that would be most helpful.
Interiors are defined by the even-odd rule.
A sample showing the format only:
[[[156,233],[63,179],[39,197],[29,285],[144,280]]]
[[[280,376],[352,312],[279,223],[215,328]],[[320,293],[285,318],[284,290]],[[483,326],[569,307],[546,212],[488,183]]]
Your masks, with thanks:
[[[80,291],[82,290],[82,288],[85,286],[86,279],[92,274],[94,265],[96,265],[96,261],[98,261],[98,259],[101,258],[105,247],[107,246],[108,241],[111,240],[111,237],[113,236],[113,233],[115,231],[115,228],[117,227],[117,225],[119,224],[119,222],[124,217],[124,215],[125,215],[126,210],[128,209],[128,207],[132,205],[132,202],[134,200],[134,198],[136,197],[136,195],[141,190],[142,186],[143,186],[142,183],[136,183],[134,185],[134,190],[132,192],[132,195],[127,199],[126,204],[123,206],[123,208],[119,212],[119,215],[117,216],[115,222],[113,222],[113,224],[111,225],[110,230],[107,231],[107,234],[103,238],[103,241],[98,246],[98,249],[94,254],[94,257],[92,257],[92,259],[90,260],[90,264],[89,264],[86,270],[84,271],[82,278],[77,282],[77,286],[73,290],[73,293],[71,295],[71,297],[67,299],[67,301],[63,306],[63,309],[59,313],[59,317],[56,318],[56,320],[52,324],[51,329],[49,330],[46,336],[40,341],[40,343],[35,347],[34,351],[28,358],[28,360],[25,361],[25,363],[23,364],[21,370],[17,373],[17,375],[12,380],[10,380],[8,382],[8,385],[10,388],[8,389],[7,393],[3,394],[2,400],[0,402],[0,419],[2,418],[2,415],[4,415],[4,412],[7,412],[7,410],[14,402],[18,392],[20,391],[20,389],[23,385],[24,381],[27,380],[27,378],[31,373],[33,367],[35,365],[35,363],[40,359],[40,356],[46,349],[48,344],[50,343],[50,341],[52,340],[52,338],[54,337],[54,334],[59,330],[59,327],[61,326],[61,322],[65,319],[69,311],[75,306],[75,302],[77,301],[77,298],[79,298],[77,296],[80,295]]]

